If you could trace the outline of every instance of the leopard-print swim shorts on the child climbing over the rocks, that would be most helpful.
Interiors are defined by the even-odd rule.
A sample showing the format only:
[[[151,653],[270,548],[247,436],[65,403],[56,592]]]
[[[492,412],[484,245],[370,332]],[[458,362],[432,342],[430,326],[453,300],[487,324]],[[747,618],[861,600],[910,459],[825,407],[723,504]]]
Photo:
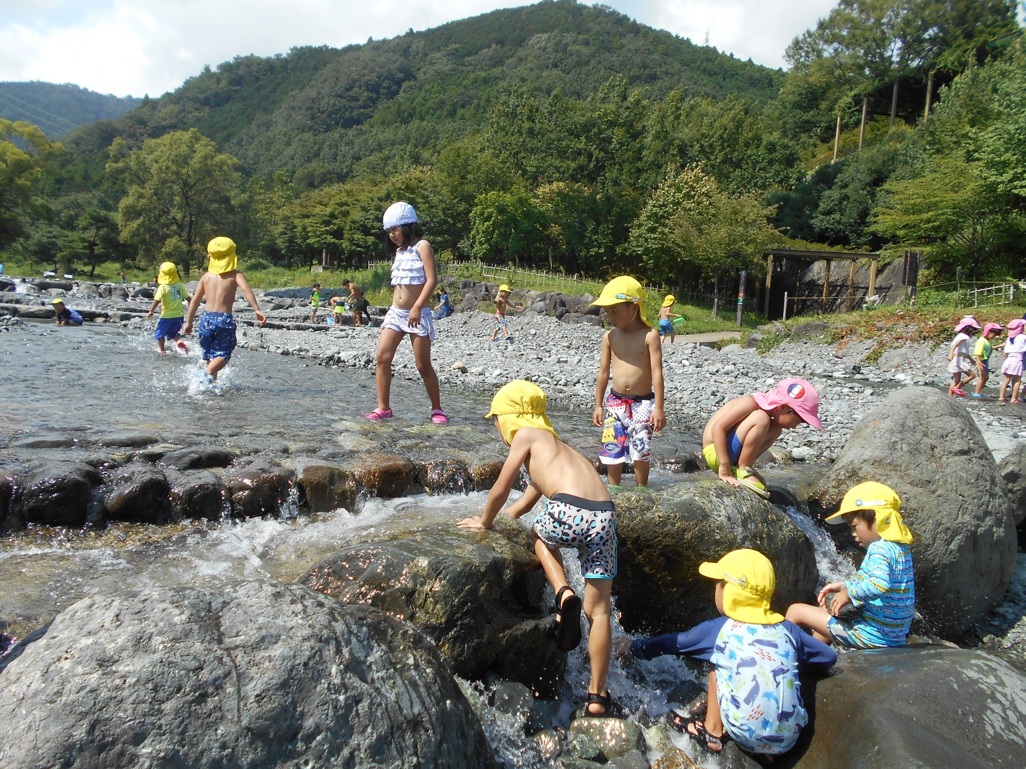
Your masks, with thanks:
[[[617,510],[573,494],[554,494],[535,519],[535,533],[546,547],[577,548],[586,579],[617,575]]]

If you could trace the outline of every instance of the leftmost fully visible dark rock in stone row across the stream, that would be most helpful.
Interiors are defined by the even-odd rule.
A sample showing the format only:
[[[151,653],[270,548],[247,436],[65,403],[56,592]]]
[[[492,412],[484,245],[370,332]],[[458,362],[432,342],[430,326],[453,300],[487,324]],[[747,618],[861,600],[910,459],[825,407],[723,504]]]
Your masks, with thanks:
[[[27,523],[81,526],[85,523],[100,473],[88,464],[50,464],[25,479],[23,511]]]

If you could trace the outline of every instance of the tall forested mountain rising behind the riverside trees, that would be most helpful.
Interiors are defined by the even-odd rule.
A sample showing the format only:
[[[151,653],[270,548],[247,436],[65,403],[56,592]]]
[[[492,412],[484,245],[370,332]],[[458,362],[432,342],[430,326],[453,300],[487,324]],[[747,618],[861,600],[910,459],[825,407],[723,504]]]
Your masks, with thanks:
[[[196,127],[250,172],[315,186],[401,158],[421,162],[480,130],[513,88],[585,97],[615,75],[648,97],[728,94],[766,102],[783,73],[695,45],[608,8],[546,0],[342,49],[240,56],[67,144],[100,153]]]

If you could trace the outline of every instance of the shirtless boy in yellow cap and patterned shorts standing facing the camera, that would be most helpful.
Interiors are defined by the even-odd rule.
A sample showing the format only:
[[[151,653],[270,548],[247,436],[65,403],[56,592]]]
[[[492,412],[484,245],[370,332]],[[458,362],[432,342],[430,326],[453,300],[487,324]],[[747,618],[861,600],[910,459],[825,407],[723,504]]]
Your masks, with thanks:
[[[659,334],[644,319],[644,289],[629,276],[605,284],[592,305],[605,308],[613,330],[602,336],[602,360],[595,382],[592,421],[602,428],[599,459],[609,483],[620,486],[624,462],[634,462],[638,486],[648,483],[653,433],[666,427],[663,410],[663,350]],[[613,390],[605,395],[613,366]],[[605,418],[602,406],[605,405]]]

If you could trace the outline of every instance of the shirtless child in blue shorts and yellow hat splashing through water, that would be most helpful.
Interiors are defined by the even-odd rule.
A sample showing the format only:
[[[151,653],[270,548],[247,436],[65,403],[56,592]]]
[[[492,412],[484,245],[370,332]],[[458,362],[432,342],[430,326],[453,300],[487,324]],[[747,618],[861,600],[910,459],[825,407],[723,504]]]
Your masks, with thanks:
[[[196,293],[189,302],[186,314],[186,327],[183,335],[192,333],[193,318],[203,299],[206,307],[199,319],[199,346],[203,350],[203,360],[206,361],[206,371],[198,372],[196,377],[210,385],[218,380],[218,373],[232,358],[235,350],[235,318],[232,317],[232,305],[235,302],[235,289],[242,291],[246,301],[256,314],[256,322],[264,325],[267,316],[260,311],[256,297],[253,296],[245,276],[235,269],[238,258],[235,255],[235,242],[231,238],[214,238],[206,246],[210,257],[207,271],[199,279]]]

